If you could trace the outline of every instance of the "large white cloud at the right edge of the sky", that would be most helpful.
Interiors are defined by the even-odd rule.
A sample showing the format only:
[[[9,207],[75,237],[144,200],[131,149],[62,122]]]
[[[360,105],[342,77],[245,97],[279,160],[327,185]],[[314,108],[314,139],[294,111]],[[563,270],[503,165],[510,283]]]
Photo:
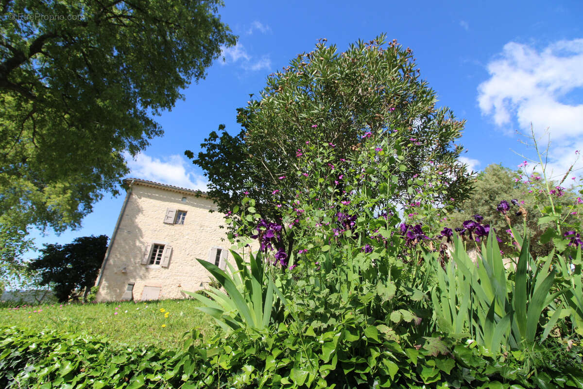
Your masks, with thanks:
[[[557,41],[541,51],[510,42],[487,69],[490,78],[478,86],[482,114],[504,130],[530,134],[532,123],[540,137],[548,128],[549,168],[555,176],[564,174],[574,151],[583,149],[583,39]]]

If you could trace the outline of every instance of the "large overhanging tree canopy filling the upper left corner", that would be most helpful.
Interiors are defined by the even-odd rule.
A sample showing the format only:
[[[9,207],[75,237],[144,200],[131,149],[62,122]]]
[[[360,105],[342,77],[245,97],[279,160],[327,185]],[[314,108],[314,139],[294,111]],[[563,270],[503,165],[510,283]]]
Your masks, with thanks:
[[[0,255],[76,227],[162,130],[151,114],[236,37],[220,0],[6,0],[0,8]]]

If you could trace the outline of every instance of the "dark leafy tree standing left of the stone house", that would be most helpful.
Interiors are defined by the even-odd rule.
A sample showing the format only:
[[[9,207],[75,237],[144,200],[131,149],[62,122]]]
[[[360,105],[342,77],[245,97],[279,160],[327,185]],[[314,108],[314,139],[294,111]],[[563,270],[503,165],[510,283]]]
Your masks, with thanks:
[[[107,236],[85,236],[73,243],[45,244],[41,257],[27,264],[29,271],[38,272],[39,285],[54,285],[55,296],[65,302],[73,290],[85,290],[95,283],[107,251]]]

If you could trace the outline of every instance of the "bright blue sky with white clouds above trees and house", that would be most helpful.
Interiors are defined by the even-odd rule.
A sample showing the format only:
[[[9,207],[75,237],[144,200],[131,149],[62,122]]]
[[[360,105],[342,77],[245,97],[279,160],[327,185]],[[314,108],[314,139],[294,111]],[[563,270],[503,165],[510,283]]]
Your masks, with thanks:
[[[130,176],[204,190],[202,171],[184,157],[198,153],[210,131],[239,131],[236,108],[258,94],[266,76],[327,38],[339,51],[359,38],[387,33],[410,47],[438,105],[466,119],[461,143],[475,170],[490,163],[515,167],[515,130],[549,127],[553,174],[564,173],[583,149],[583,2],[573,1],[226,1],[222,20],[240,38],[206,79],[184,91],[156,120],[165,134],[130,160]],[[530,154],[532,155],[532,154]],[[576,166],[582,168],[579,162]],[[575,173],[583,173],[583,169]],[[111,236],[123,195],[94,206],[79,230],[35,234],[43,243],[69,243],[90,234]],[[34,257],[29,253],[27,257]]]

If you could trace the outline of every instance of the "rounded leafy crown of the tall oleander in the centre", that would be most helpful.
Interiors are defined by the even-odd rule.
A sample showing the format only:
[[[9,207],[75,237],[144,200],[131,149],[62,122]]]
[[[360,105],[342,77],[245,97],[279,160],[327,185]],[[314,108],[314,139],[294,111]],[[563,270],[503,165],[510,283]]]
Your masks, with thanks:
[[[193,162],[205,170],[221,211],[248,196],[257,212],[273,219],[282,196],[294,197],[298,156],[308,145],[331,145],[335,164],[350,158],[364,138],[384,137],[399,153],[399,163],[385,167],[401,188],[394,204],[418,195],[412,180],[431,187],[427,194],[436,205],[463,199],[471,180],[457,160],[463,148],[454,141],[464,122],[436,107],[436,93],[419,73],[412,51],[396,41],[387,44],[384,36],[345,52],[322,41],[269,75],[259,99],[238,109],[240,134],[211,132]]]

